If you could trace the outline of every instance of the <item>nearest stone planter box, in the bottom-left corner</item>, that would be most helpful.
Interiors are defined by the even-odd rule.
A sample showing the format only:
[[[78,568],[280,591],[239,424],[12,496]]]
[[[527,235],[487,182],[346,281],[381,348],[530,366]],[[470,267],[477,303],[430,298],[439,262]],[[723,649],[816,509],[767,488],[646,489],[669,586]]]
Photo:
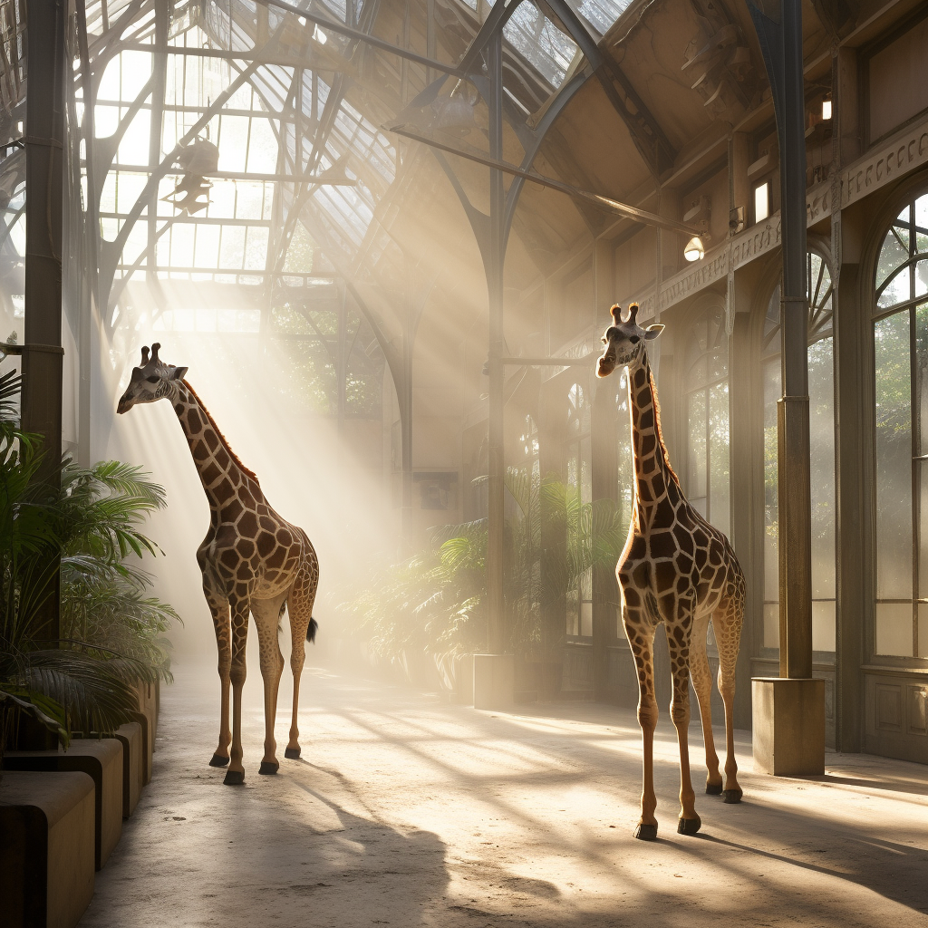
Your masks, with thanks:
[[[0,780],[0,928],[73,928],[94,895],[94,781],[85,773]]]

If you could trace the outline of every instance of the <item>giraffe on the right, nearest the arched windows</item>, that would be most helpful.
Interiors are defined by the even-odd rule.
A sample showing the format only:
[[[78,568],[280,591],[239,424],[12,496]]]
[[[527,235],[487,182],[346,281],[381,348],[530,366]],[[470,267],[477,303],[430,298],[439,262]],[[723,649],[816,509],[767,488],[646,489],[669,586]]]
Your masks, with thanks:
[[[741,801],[732,711],[735,662],[744,615],[744,574],[728,538],[690,506],[670,466],[661,436],[657,387],[648,361],[648,342],[664,329],[642,329],[636,322],[638,303],[631,303],[623,321],[620,306],[612,306],[612,325],[602,337],[598,377],[616,367],[628,367],[628,406],[635,464],[635,505],[625,548],[615,569],[622,596],[625,635],[638,671],[638,724],[644,754],[641,818],[635,837],[657,837],[653,745],[657,726],[654,698],[653,641],[663,622],[670,651],[673,697],[670,714],[677,728],[680,751],[680,817],[677,831],[695,834],[702,824],[696,813],[690,781],[690,677],[702,716],[709,775],[705,792],[722,794],[727,803]],[[725,785],[719,772],[712,733],[712,675],[706,657],[709,620],[718,645],[718,689],[725,703]],[[690,647],[692,651],[690,652]]]

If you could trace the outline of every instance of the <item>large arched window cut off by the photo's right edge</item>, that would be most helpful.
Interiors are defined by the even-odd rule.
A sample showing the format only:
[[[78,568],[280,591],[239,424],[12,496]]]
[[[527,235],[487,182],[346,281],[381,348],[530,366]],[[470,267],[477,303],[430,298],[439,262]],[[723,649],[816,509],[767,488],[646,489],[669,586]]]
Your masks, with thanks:
[[[883,238],[877,264],[874,650],[928,657],[928,193]]]

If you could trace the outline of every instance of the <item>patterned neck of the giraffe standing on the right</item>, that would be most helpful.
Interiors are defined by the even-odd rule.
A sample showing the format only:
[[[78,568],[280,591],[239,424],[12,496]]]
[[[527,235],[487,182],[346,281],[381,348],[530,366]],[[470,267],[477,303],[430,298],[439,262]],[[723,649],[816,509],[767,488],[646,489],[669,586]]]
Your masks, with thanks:
[[[635,509],[638,525],[651,525],[658,504],[670,496],[675,502],[680,495],[677,474],[670,466],[664,437],[661,434],[661,408],[651,364],[645,354],[644,363],[628,376],[628,408],[632,429],[632,456],[635,466]]]

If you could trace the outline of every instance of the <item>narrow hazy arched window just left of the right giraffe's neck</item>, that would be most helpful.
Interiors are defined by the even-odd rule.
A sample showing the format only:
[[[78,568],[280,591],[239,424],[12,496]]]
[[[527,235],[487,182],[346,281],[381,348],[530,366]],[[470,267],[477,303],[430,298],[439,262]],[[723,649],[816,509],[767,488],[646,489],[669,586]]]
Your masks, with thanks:
[[[590,542],[590,526],[584,513],[593,501],[591,425],[592,401],[585,384],[574,383],[567,392],[567,548],[568,561],[588,561],[582,548]],[[593,569],[569,572],[567,590],[567,634],[593,634]]]

